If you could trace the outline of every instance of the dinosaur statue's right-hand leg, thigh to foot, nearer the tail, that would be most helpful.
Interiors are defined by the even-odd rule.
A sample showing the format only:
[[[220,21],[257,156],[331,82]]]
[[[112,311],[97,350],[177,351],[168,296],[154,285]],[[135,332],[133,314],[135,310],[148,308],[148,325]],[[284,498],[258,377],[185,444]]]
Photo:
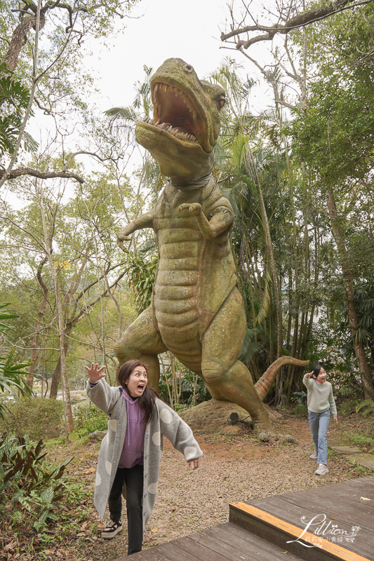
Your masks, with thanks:
[[[234,288],[203,337],[201,370],[213,398],[240,405],[251,415],[255,430],[267,432],[272,430],[269,414],[251,373],[238,360],[245,333],[243,301]]]

